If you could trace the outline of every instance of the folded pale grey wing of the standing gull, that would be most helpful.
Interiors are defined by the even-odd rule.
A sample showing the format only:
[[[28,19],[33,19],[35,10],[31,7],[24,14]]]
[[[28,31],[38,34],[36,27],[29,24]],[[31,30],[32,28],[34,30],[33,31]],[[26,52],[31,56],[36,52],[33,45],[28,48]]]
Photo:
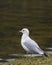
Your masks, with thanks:
[[[32,52],[37,52],[39,54],[44,53],[44,51],[42,49],[40,49],[38,44],[35,44],[34,41],[26,41],[26,42],[24,42],[24,45]]]

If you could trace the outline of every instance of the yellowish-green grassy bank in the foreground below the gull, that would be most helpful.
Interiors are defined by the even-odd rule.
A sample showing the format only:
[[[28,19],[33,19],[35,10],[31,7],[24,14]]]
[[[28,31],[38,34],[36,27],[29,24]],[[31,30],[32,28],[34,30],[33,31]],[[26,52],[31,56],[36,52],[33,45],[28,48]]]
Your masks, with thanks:
[[[17,58],[14,61],[2,65],[52,65],[52,56],[45,57],[25,57]]]

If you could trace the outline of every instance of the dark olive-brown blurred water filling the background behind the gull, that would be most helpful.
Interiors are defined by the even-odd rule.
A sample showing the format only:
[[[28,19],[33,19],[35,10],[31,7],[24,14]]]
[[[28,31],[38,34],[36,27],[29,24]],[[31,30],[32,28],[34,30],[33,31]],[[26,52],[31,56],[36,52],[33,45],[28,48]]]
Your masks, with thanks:
[[[0,0],[0,55],[25,53],[24,27],[42,49],[52,47],[52,0]]]

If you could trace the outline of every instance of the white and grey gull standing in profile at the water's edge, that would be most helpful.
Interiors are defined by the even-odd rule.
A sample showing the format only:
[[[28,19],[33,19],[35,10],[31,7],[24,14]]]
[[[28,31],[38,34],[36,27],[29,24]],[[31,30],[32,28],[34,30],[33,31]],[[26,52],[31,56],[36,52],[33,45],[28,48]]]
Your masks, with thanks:
[[[29,30],[27,28],[23,28],[20,32],[22,33],[21,45],[27,53],[36,52],[47,57],[47,54],[38,46],[38,44],[34,40],[30,38]]]

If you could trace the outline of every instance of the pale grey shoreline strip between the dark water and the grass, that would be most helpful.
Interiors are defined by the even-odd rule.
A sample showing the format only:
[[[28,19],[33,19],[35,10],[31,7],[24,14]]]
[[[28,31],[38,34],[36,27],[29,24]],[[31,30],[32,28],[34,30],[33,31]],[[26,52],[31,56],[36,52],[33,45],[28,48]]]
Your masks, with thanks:
[[[52,51],[46,51],[47,54],[52,54]],[[10,62],[15,60],[16,58],[22,58],[22,57],[36,57],[36,56],[42,56],[39,54],[8,54],[7,58],[2,57],[0,58],[0,64],[5,62]]]

